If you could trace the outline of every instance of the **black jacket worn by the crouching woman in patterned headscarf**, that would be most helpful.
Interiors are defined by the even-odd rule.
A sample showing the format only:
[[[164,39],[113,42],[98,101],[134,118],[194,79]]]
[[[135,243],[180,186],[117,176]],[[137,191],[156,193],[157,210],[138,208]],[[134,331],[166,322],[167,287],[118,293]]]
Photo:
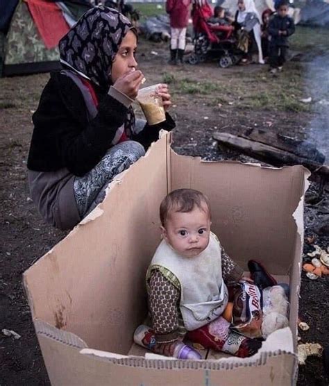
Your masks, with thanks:
[[[28,169],[56,171],[66,167],[75,176],[83,176],[103,158],[126,119],[128,108],[108,94],[95,90],[99,112],[88,119],[85,101],[78,86],[68,76],[53,72],[44,87],[39,106],[33,114],[34,131],[28,154]],[[170,131],[174,121],[155,126],[146,124],[131,137],[147,149],[158,140],[160,129]]]

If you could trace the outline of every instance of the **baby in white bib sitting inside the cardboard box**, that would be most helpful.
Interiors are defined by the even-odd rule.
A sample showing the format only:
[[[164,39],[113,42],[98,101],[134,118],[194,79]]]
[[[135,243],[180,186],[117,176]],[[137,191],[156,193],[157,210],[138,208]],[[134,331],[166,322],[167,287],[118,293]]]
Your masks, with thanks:
[[[155,353],[172,356],[186,338],[204,348],[246,357],[260,342],[229,330],[223,314],[226,283],[243,279],[210,231],[210,203],[201,192],[179,189],[160,205],[163,240],[146,274]]]

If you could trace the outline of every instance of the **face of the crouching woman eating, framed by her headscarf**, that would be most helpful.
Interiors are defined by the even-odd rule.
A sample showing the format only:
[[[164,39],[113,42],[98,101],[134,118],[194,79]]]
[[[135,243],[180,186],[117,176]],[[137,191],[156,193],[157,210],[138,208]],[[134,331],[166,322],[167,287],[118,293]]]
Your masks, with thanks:
[[[130,71],[135,71],[137,62],[135,60],[135,51],[137,48],[137,37],[132,31],[128,31],[122,40],[119,51],[112,62],[111,78],[114,84],[120,76]]]

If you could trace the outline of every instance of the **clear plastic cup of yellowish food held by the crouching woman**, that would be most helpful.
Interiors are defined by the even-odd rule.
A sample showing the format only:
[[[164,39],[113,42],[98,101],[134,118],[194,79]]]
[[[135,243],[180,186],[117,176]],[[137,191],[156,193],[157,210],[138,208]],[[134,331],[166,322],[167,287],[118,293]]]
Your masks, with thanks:
[[[162,98],[158,96],[158,85],[141,88],[137,94],[137,102],[140,103],[146,121],[149,125],[160,124],[166,120],[165,108]]]

